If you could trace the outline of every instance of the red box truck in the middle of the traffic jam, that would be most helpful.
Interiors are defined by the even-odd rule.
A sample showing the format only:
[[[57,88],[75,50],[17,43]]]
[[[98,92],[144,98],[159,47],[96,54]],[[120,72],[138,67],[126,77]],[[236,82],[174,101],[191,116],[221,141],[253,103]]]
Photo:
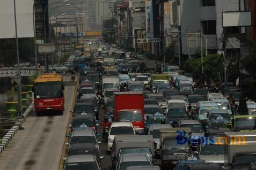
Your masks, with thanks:
[[[141,91],[114,92],[115,121],[130,121],[135,132],[144,132],[144,96]]]

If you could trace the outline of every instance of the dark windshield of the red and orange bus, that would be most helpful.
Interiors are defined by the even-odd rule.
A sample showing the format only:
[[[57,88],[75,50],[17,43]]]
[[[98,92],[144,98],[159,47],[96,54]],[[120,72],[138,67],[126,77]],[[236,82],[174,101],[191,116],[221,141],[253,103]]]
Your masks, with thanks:
[[[40,98],[60,98],[63,97],[61,82],[39,82],[34,85],[34,97]]]

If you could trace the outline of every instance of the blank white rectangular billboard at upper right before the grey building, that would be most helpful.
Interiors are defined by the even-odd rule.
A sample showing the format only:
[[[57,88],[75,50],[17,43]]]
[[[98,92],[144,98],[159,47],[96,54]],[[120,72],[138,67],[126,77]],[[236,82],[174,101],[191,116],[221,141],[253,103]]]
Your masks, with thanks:
[[[252,25],[250,11],[222,12],[223,27],[243,27]]]

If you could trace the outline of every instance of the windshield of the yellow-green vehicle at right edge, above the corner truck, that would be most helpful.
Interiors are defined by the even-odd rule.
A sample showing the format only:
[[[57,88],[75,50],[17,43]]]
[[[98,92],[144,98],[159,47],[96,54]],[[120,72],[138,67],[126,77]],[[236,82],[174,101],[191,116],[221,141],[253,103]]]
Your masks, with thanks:
[[[256,118],[237,118],[235,130],[254,130],[256,129]]]

